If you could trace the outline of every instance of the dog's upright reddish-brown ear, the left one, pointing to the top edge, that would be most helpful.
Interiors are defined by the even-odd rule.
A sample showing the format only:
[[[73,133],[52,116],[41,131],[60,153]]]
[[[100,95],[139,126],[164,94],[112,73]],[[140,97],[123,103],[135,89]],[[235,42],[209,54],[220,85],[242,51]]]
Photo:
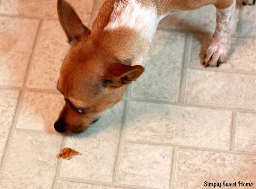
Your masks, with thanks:
[[[82,37],[90,34],[90,30],[82,24],[76,12],[66,1],[58,0],[57,7],[58,18],[70,44],[75,44]]]

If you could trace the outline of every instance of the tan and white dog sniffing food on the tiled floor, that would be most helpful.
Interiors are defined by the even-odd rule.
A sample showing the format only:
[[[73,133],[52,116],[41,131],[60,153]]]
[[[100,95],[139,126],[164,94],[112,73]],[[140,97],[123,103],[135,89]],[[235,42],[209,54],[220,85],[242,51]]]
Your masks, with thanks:
[[[106,0],[91,31],[68,3],[58,0],[59,20],[71,48],[57,85],[66,102],[55,130],[84,131],[143,73],[140,63],[159,21],[171,11],[209,4],[217,8],[217,26],[202,62],[205,67],[227,59],[236,0]]]

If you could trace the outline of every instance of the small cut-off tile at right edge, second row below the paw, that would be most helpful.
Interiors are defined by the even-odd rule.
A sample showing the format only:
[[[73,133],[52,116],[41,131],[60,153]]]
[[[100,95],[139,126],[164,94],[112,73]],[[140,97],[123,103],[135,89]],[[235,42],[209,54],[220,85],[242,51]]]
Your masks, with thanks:
[[[256,114],[237,113],[236,150],[256,152]]]

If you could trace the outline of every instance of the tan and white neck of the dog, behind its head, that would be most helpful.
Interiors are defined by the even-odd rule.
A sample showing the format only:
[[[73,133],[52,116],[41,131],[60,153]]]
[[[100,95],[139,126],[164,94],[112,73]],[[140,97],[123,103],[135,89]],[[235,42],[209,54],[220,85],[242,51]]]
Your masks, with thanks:
[[[153,3],[143,4],[137,0],[111,2],[112,5],[101,8],[100,16],[93,24],[93,29],[99,32],[97,41],[124,64],[140,65],[163,16],[158,15]],[[112,10],[104,15],[102,12],[109,10],[110,6]],[[99,20],[102,16],[108,17],[107,21],[106,18],[105,21]]]

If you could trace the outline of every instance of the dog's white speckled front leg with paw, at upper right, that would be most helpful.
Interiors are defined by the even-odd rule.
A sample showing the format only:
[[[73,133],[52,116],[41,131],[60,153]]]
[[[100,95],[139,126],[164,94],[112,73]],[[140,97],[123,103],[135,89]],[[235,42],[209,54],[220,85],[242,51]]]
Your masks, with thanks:
[[[225,62],[230,49],[230,39],[234,27],[233,15],[236,8],[236,0],[228,8],[217,8],[217,25],[213,35],[212,44],[206,51],[202,64],[207,66],[219,66]]]

